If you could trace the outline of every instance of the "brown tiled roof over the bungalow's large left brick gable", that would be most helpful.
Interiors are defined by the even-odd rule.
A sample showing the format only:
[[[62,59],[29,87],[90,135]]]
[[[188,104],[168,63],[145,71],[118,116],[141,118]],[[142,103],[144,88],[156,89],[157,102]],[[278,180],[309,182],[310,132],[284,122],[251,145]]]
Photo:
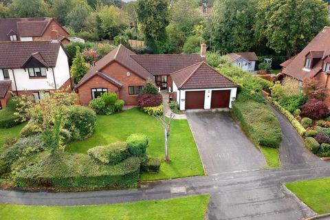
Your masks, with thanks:
[[[86,83],[87,80],[98,74],[98,72],[102,72],[102,69],[112,61],[117,61],[118,63],[124,65],[124,67],[131,69],[131,71],[135,72],[135,74],[141,76],[144,79],[152,78],[153,75],[146,71],[146,69],[144,69],[138,63],[136,63],[136,61],[131,58],[131,55],[135,54],[123,45],[115,47],[115,49],[111,50],[109,54],[100,59],[100,61],[96,62],[94,67],[91,67],[91,69],[89,69],[87,74],[85,74],[85,76],[76,85],[76,88]]]

